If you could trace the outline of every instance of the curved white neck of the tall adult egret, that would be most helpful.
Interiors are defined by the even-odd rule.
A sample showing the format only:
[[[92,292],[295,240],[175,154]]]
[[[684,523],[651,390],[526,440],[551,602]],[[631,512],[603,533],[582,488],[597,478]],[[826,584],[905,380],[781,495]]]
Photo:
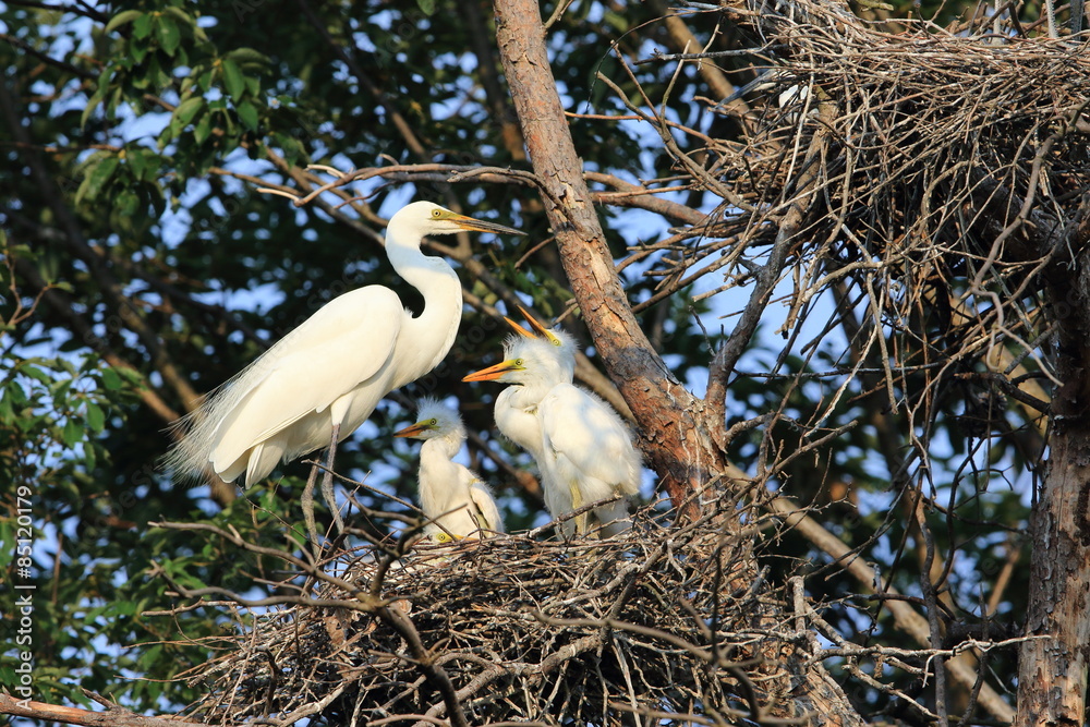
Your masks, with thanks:
[[[432,371],[447,355],[462,317],[462,287],[446,262],[420,251],[419,233],[401,226],[387,229],[386,255],[398,275],[424,296],[424,311],[402,331],[419,347],[415,361],[420,371],[407,372],[411,376],[398,384],[401,386]]]

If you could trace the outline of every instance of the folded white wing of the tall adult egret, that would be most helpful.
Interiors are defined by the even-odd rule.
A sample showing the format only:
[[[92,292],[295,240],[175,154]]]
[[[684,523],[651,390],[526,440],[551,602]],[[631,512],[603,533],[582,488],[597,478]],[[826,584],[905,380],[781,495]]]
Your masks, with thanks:
[[[214,400],[211,461],[229,463],[251,447],[375,376],[397,342],[404,310],[388,288],[368,286],[334,299],[239,375]],[[377,402],[386,391],[376,392]],[[315,443],[315,447],[323,443]]]

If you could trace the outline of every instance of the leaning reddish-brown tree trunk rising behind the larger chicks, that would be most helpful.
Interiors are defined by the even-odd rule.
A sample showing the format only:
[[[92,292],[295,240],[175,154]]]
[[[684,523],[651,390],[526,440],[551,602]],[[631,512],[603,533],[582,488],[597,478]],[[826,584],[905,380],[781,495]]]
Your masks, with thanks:
[[[545,49],[534,0],[496,0],[497,41],[545,210],[571,290],[609,377],[642,431],[649,464],[678,508],[722,476],[726,461],[712,439],[704,402],[670,373],[640,329],[583,180]],[[714,493],[708,493],[710,497]]]

